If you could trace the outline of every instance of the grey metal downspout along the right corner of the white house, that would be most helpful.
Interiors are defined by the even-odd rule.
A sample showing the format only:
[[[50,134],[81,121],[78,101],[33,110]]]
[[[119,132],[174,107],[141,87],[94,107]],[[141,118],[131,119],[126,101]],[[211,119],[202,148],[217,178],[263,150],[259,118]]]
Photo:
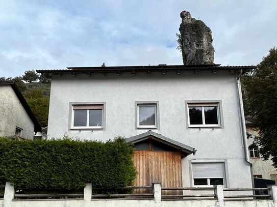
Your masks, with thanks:
[[[240,128],[241,128],[242,143],[243,143],[242,147],[244,149],[244,160],[247,164],[250,165],[252,187],[254,188],[252,163],[248,159],[248,150],[247,150],[247,142],[246,142],[247,135],[246,135],[246,127],[245,127],[245,119],[244,119],[244,111],[243,111],[243,102],[242,102],[242,93],[241,93],[241,84],[240,84],[241,75],[242,75],[242,69],[240,69],[239,75],[237,77],[237,90],[238,90],[239,112],[240,112]]]

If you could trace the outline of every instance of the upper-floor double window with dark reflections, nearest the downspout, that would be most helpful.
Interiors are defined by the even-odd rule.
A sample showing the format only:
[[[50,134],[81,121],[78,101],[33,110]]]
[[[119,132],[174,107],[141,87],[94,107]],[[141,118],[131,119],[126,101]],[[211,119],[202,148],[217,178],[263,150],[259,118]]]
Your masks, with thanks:
[[[187,103],[189,127],[221,127],[219,103]]]

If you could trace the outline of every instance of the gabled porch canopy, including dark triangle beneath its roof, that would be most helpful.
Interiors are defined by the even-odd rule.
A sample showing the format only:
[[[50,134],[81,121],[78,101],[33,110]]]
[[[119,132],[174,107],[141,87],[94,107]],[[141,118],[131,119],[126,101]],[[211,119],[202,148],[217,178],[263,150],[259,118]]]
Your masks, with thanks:
[[[196,150],[186,144],[180,143],[161,134],[157,134],[151,130],[148,132],[129,137],[126,142],[133,142],[137,150],[150,151],[177,151],[180,152],[182,158],[190,154],[195,155]]]

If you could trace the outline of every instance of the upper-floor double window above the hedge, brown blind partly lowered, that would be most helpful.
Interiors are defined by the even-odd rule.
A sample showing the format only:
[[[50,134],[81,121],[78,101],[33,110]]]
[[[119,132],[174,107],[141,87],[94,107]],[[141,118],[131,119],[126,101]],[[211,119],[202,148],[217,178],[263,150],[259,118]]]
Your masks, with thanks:
[[[74,104],[72,110],[71,129],[103,129],[104,104]]]

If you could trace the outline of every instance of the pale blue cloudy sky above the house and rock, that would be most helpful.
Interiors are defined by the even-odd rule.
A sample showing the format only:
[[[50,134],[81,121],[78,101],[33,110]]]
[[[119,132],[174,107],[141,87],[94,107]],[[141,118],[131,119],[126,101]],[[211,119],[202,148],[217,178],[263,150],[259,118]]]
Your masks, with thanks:
[[[275,0],[0,0],[0,77],[103,62],[182,65],[183,10],[211,28],[216,64],[256,65],[277,46]]]

